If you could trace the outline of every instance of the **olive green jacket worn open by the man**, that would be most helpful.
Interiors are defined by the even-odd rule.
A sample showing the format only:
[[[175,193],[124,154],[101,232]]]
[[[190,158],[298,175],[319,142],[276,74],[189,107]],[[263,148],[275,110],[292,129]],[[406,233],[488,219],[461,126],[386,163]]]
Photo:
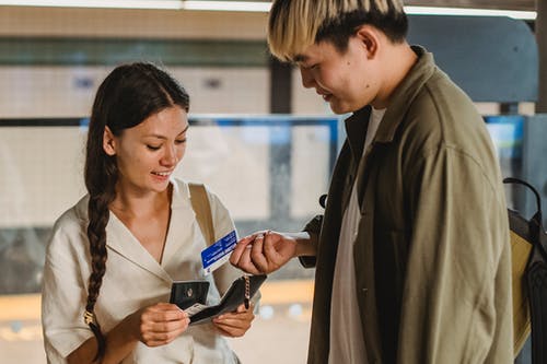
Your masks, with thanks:
[[[513,362],[499,162],[472,101],[431,54],[414,50],[419,59],[364,156],[370,108],[346,120],[325,214],[305,228],[319,235],[316,257],[301,259],[316,266],[309,363],[328,357],[334,267],[353,181],[361,211],[354,289],[369,363]]]

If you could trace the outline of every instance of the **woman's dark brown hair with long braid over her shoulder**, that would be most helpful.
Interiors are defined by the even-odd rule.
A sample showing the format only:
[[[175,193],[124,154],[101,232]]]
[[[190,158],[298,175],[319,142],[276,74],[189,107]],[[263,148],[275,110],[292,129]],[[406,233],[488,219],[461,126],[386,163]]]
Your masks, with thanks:
[[[94,361],[100,361],[106,350],[105,337],[94,310],[106,272],[106,225],[118,180],[116,156],[106,154],[103,149],[104,131],[108,127],[114,136],[119,137],[125,129],[132,128],[149,116],[174,105],[188,111],[188,94],[166,72],[150,63],[117,67],[103,81],[93,103],[84,167],[85,187],[90,196],[86,233],[92,269],[84,321],[97,340]]]

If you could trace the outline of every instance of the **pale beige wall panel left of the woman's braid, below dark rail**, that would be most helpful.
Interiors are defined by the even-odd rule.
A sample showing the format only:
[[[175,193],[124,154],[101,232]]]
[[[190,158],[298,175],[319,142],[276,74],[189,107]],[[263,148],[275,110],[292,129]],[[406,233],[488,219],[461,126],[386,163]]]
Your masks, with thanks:
[[[83,193],[78,127],[0,128],[0,227],[50,226]]]

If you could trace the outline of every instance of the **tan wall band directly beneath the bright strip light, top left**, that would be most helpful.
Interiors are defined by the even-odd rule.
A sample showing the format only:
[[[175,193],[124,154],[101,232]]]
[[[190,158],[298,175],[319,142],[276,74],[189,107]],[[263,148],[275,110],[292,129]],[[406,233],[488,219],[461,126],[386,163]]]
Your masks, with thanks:
[[[1,7],[0,36],[265,39],[267,13]]]

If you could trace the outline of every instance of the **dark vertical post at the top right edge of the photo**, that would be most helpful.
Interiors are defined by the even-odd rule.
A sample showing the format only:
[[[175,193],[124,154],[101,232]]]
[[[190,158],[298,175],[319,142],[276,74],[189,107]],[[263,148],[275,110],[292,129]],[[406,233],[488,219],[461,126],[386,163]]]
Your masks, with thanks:
[[[537,17],[535,23],[537,51],[539,55],[539,89],[536,113],[547,113],[547,1],[536,0]]]

